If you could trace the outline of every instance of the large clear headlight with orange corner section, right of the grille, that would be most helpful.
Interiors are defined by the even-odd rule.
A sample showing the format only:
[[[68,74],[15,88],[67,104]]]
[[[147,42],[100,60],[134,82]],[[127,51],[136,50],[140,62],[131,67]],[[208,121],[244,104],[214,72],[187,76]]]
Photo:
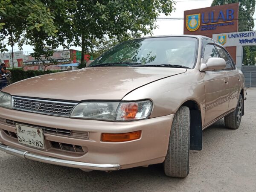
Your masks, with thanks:
[[[152,110],[151,101],[141,102],[84,102],[76,105],[70,117],[102,120],[146,119]]]

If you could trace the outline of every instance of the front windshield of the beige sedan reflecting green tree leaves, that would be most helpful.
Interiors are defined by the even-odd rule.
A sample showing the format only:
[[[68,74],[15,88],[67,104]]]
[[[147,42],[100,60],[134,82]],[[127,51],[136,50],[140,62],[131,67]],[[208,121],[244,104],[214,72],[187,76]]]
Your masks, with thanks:
[[[89,67],[144,66],[193,68],[197,38],[161,37],[125,41],[105,52]]]

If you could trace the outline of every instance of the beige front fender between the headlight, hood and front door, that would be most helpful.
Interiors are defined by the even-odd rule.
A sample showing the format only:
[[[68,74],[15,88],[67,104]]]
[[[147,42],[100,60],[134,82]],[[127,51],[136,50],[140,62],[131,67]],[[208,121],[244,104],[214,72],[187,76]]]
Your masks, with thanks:
[[[184,102],[193,100],[198,103],[204,119],[204,81],[197,69],[146,84],[122,98],[123,101],[142,99],[151,99],[154,103],[150,118],[176,113]]]

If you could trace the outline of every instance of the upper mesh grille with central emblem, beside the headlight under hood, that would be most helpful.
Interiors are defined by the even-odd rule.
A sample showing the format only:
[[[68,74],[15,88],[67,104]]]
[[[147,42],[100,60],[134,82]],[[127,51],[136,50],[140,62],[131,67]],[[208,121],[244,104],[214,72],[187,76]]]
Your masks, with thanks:
[[[54,116],[70,116],[77,103],[47,101],[42,99],[28,99],[12,97],[12,108],[20,111],[29,111]]]

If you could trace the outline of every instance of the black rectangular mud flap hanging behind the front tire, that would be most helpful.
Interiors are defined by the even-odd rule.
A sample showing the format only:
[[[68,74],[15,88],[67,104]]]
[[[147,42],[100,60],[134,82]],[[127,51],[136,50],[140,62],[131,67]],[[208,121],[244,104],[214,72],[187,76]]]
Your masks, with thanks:
[[[202,119],[199,110],[190,111],[190,150],[201,151],[202,144]]]

